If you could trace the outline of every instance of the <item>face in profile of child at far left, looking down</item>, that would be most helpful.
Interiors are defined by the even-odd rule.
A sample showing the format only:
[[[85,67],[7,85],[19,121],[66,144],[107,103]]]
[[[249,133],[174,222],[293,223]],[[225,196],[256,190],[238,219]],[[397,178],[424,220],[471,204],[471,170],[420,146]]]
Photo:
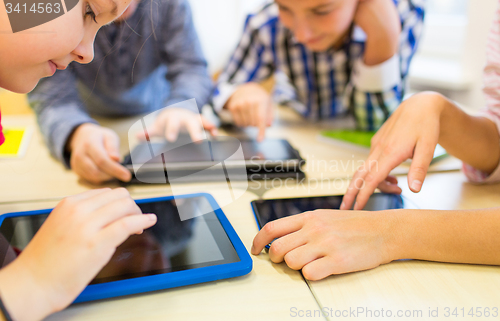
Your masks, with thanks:
[[[80,0],[62,16],[16,33],[2,2],[9,0],[0,0],[0,87],[27,93],[56,68],[91,62],[97,31],[124,12],[130,0]]]

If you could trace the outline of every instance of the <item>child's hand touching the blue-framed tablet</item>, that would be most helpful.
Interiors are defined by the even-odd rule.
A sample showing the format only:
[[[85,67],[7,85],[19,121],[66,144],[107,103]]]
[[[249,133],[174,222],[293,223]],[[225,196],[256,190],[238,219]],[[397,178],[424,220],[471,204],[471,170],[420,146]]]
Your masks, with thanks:
[[[21,255],[0,272],[0,293],[14,320],[41,320],[68,306],[130,235],[156,223],[125,189],[64,199]]]

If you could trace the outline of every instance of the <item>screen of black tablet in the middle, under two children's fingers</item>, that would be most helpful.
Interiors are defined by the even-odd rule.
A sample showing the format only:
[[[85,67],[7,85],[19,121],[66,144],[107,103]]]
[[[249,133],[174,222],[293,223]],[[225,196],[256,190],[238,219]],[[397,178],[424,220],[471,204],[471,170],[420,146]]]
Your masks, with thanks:
[[[178,146],[180,145],[180,146]],[[242,148],[244,157],[236,153]],[[167,151],[167,152],[164,152]],[[150,159],[151,152],[159,155]],[[258,160],[296,160],[297,154],[285,140],[269,139],[261,143],[252,140],[238,141],[236,139],[204,140],[200,143],[151,143],[137,146],[133,153],[136,163],[162,164],[165,163],[195,163],[220,161],[258,161]],[[161,154],[161,155],[160,155]],[[127,160],[126,165],[130,165]]]

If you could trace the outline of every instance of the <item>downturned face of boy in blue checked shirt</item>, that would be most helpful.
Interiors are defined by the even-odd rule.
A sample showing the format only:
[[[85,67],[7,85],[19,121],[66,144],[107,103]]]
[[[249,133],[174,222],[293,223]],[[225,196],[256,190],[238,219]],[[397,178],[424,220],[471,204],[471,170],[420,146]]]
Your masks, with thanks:
[[[311,51],[337,45],[349,30],[359,0],[275,0],[281,22]]]

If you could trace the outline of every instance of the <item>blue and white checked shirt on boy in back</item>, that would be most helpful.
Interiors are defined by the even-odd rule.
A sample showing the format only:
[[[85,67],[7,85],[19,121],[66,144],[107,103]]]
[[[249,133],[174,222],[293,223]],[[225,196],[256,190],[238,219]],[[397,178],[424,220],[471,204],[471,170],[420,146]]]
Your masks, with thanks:
[[[220,111],[238,86],[271,76],[276,103],[312,120],[349,113],[362,130],[376,130],[400,104],[410,61],[421,35],[425,0],[394,0],[401,19],[399,51],[392,59],[363,64],[366,35],[351,28],[339,49],[312,52],[279,20],[274,2],[249,15],[244,34],[214,94]]]

